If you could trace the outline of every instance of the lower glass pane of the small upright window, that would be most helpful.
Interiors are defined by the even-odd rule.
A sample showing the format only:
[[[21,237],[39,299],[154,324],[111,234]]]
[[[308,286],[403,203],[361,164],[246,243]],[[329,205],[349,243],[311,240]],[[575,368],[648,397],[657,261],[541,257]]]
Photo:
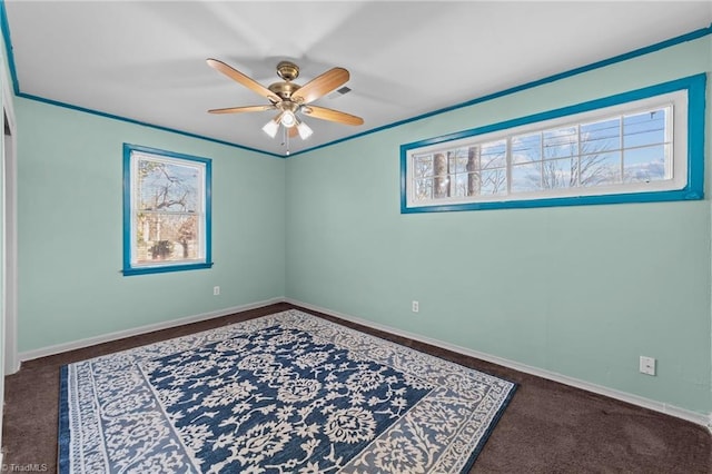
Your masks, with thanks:
[[[136,215],[136,259],[138,264],[198,259],[198,216],[195,214]]]

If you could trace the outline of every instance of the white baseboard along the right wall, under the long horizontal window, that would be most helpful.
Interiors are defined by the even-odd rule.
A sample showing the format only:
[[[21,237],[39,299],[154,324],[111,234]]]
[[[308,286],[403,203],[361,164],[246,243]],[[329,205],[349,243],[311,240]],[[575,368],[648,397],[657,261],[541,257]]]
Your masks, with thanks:
[[[692,423],[696,423],[699,425],[705,426],[710,432],[712,432],[712,413],[704,414],[692,412],[685,408],[680,408],[678,406],[673,406],[663,402],[656,402],[654,399],[645,398],[639,395],[634,395],[627,392],[616,391],[614,388],[604,387],[601,385],[592,384],[590,382],[581,381],[577,378],[573,378],[563,374],[558,374],[551,371],[545,371],[543,368],[533,367],[526,364],[522,364],[515,361],[510,361],[503,357],[494,356],[491,354],[482,353],[478,350],[469,349],[466,347],[461,347],[454,344],[445,343],[443,340],[434,339],[431,337],[426,337],[419,334],[409,333],[407,330],[398,329],[395,327],[386,326],[383,324],[374,323],[368,319],[362,319],[359,317],[345,315],[343,313],[334,312],[327,308],[322,308],[319,306],[310,305],[308,303],[298,302],[291,298],[285,298],[285,303],[289,303],[295,306],[301,306],[306,309],[312,309],[314,312],[324,313],[329,316],[335,316],[340,319],[345,319],[352,323],[360,324],[367,327],[372,327],[374,329],[385,330],[390,334],[395,334],[397,336],[407,337],[409,339],[418,340],[422,343],[431,344],[437,347],[442,347],[444,349],[453,350],[459,354],[464,354],[471,357],[475,357],[482,361],[491,362],[493,364],[502,365],[504,367],[513,368],[518,372],[524,372],[526,374],[535,375],[537,377],[546,378],[550,381],[558,382],[564,385],[570,385],[576,388],[581,388],[587,392],[593,392],[599,395],[604,395],[611,398],[620,399],[622,402],[627,402],[632,405],[642,406],[644,408],[653,409],[655,412],[664,413],[671,416],[675,416],[678,418],[686,419]]]

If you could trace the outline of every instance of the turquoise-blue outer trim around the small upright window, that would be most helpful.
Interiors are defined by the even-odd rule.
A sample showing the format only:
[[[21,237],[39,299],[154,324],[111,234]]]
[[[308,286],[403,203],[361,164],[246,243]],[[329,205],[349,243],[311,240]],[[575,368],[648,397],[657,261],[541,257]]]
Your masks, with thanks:
[[[198,161],[205,165],[205,261],[195,264],[131,265],[131,152],[140,151],[159,157]],[[123,276],[185,271],[212,267],[212,161],[190,155],[123,144]]]

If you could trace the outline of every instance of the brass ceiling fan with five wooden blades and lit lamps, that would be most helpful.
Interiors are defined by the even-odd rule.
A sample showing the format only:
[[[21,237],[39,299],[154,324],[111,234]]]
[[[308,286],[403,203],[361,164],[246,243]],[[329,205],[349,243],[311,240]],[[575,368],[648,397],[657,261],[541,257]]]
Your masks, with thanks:
[[[264,87],[259,82],[222,61],[210,58],[207,62],[211,68],[222,72],[225,76],[241,83],[251,91],[267,98],[270,102],[269,105],[264,106],[211,109],[208,110],[208,112],[241,113],[278,110],[277,116],[263,127],[263,130],[271,138],[275,138],[277,130],[281,125],[285,128],[287,137],[295,137],[296,135],[299,135],[303,140],[306,140],[312,135],[313,130],[299,119],[299,116],[314,117],[345,125],[356,126],[364,124],[364,119],[360,117],[338,110],[327,109],[326,107],[310,105],[318,98],[332,92],[348,81],[349,75],[344,68],[329,69],[304,86],[299,86],[293,82],[297,77],[299,77],[299,67],[290,61],[280,61],[277,65],[277,76],[279,76],[283,81],[271,83],[269,87]]]

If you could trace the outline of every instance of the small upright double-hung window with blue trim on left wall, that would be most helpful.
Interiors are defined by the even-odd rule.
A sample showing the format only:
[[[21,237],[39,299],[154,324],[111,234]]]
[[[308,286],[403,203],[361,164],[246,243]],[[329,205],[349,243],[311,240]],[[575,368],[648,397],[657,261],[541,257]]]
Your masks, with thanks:
[[[209,268],[210,160],[123,146],[123,275]]]

